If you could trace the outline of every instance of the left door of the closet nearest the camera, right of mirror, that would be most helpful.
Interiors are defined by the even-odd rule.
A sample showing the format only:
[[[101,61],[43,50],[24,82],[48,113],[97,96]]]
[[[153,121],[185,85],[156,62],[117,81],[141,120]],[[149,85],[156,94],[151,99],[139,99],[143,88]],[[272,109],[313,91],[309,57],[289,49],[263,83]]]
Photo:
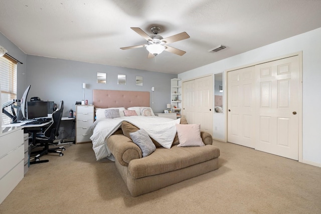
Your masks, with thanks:
[[[254,148],[255,67],[227,73],[228,78],[228,142]]]

